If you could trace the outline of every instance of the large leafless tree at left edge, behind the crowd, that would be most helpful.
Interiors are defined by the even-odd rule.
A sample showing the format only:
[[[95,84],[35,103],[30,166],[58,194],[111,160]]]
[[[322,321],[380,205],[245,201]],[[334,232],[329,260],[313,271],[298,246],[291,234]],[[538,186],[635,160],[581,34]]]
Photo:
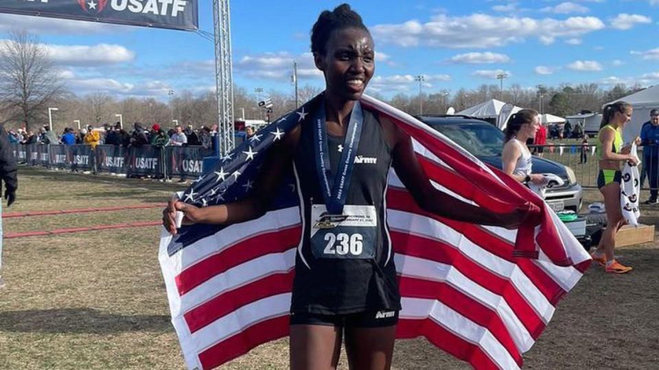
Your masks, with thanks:
[[[6,121],[30,123],[47,114],[48,104],[63,91],[58,73],[38,38],[12,32],[0,45],[0,110]]]

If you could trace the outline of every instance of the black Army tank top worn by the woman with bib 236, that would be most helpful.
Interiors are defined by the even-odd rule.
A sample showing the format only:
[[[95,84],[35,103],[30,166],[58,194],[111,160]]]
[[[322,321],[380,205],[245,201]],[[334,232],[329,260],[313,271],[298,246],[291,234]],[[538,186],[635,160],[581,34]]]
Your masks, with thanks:
[[[375,206],[377,227],[374,258],[315,258],[311,251],[312,204],[324,204],[314,153],[314,123],[307,119],[294,154],[294,167],[301,191],[303,235],[298,249],[291,312],[349,314],[371,310],[400,310],[391,239],[386,226],[384,196],[391,166],[391,149],[380,121],[364,109],[362,134],[346,205]],[[336,173],[343,137],[327,137],[329,162]]]

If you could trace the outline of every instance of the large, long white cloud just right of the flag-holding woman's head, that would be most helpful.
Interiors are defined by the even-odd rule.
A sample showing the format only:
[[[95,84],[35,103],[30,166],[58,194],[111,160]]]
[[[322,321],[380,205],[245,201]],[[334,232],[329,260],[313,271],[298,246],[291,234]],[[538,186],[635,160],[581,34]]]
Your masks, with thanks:
[[[376,42],[402,47],[485,48],[500,47],[524,38],[575,38],[603,29],[594,16],[575,16],[559,21],[553,18],[518,18],[516,16],[448,16],[438,14],[430,21],[417,20],[371,27]]]

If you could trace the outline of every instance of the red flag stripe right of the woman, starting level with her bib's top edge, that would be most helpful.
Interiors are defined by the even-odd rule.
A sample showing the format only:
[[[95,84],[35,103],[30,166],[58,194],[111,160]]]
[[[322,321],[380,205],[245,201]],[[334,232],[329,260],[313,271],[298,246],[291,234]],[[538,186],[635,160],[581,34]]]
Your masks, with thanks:
[[[529,277],[538,290],[542,292],[542,294],[554,306],[557,304],[560,297],[566,293],[561,286],[559,286],[551,277],[546,275],[540,267],[533,264],[531,260],[528,258],[513,257],[512,245],[510,245],[507,240],[502,240],[501,238],[494,236],[488,230],[483,229],[483,227],[460,221],[452,221],[425,212],[417,206],[410,193],[397,188],[389,188],[387,191],[386,204],[389,209],[402,210],[404,212],[418,214],[419,216],[436,219],[437,221],[448,225],[448,227],[451,227],[456,232],[463,234],[465,238],[478,245],[478,247],[489,251],[503,260],[517,264],[524,275]]]

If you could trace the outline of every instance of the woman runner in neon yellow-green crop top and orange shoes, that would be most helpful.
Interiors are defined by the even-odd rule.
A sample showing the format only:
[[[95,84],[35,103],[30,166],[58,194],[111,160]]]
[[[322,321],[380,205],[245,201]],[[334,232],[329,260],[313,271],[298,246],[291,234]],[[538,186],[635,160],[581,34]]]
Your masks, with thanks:
[[[602,124],[597,136],[599,174],[597,187],[604,196],[607,225],[599,240],[597,250],[591,256],[608,273],[627,273],[632,267],[624,266],[614,257],[615,238],[618,229],[625,224],[620,206],[621,166],[625,160],[638,164],[632,156],[631,146],[623,147],[623,127],[632,119],[632,105],[618,101],[604,108]],[[639,141],[638,137],[636,141]]]

